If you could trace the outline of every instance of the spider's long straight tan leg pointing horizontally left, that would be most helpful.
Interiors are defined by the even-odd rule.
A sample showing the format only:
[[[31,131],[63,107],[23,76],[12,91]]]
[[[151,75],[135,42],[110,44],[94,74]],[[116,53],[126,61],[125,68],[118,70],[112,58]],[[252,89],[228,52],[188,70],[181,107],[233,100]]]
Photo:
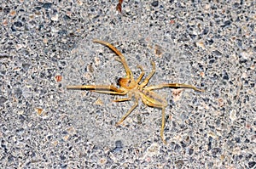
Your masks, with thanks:
[[[119,89],[113,85],[78,85],[78,86],[67,86],[70,90],[89,90],[90,92],[96,93],[107,93],[107,94],[119,94],[125,95],[125,90]]]

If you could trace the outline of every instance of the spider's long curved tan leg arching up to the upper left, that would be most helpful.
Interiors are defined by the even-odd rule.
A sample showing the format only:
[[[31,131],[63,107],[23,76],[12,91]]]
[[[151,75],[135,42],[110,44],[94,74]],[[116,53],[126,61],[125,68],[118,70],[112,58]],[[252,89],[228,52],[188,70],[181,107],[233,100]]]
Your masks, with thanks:
[[[124,55],[117,48],[113,47],[113,45],[110,44],[109,42],[104,42],[104,41],[97,40],[97,39],[93,40],[93,42],[97,42],[97,43],[100,43],[102,45],[105,45],[108,48],[110,48],[115,54],[117,54],[119,56],[119,61],[122,62],[122,64],[125,67],[125,72],[126,72],[127,78],[130,78],[130,76],[131,76],[131,78],[133,78],[131,70],[130,70],[129,66],[127,65],[126,61],[125,61]]]

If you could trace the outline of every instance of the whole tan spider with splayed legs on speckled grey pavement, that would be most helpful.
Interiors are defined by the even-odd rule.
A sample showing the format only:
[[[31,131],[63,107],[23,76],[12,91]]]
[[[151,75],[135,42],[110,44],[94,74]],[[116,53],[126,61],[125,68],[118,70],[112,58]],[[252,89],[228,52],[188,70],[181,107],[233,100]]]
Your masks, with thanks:
[[[126,71],[126,76],[121,77],[118,80],[119,88],[114,87],[113,85],[79,85],[79,86],[67,86],[67,89],[81,89],[81,90],[89,90],[91,92],[96,92],[96,93],[107,93],[107,94],[117,94],[117,95],[125,95],[127,94],[127,98],[123,99],[116,99],[113,100],[114,102],[123,102],[123,101],[128,101],[131,100],[132,97],[135,98],[135,103],[131,107],[130,110],[127,111],[127,113],[121,118],[119,122],[116,123],[116,126],[119,126],[125,118],[131,114],[131,111],[134,110],[137,105],[138,105],[138,99],[143,100],[143,104],[146,104],[151,107],[156,107],[160,108],[162,110],[162,125],[160,129],[160,138],[162,141],[166,144],[166,140],[164,138],[164,127],[165,127],[165,108],[167,106],[167,101],[164,99],[162,96],[160,96],[157,93],[154,93],[153,90],[155,89],[160,89],[164,87],[169,87],[169,88],[192,88],[195,91],[203,92],[204,90],[196,88],[194,86],[188,85],[188,84],[181,84],[181,83],[164,83],[160,85],[155,85],[155,86],[149,86],[146,87],[148,84],[148,81],[150,78],[154,75],[155,72],[155,64],[154,61],[151,60],[151,64],[153,66],[151,73],[144,79],[143,82],[143,76],[145,75],[145,72],[143,70],[143,67],[141,65],[138,66],[142,70],[141,75],[135,80],[133,78],[133,74],[128,67],[125,57],[123,54],[119,52],[117,48],[114,48],[112,44],[100,40],[94,40],[93,42],[98,42],[101,43],[102,45],[107,46],[115,54],[119,56],[118,60],[121,62]]]

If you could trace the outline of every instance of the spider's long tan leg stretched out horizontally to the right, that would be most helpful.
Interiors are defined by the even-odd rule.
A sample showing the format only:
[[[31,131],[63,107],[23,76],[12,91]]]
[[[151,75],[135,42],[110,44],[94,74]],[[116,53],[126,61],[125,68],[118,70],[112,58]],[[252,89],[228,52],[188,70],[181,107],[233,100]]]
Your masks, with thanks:
[[[160,89],[160,88],[164,88],[164,87],[168,87],[168,88],[191,88],[191,89],[193,89],[195,91],[198,91],[198,92],[204,92],[205,91],[203,89],[196,88],[192,85],[182,84],[182,83],[160,84],[160,85],[155,85],[155,86],[150,86],[150,87],[144,87],[144,89],[155,90],[155,89]]]

